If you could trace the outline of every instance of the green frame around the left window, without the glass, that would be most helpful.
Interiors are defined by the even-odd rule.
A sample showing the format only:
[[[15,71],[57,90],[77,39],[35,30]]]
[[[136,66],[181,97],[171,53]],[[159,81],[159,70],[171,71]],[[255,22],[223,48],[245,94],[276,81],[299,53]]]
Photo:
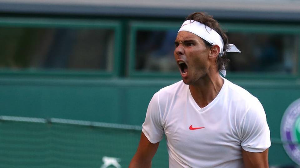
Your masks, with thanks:
[[[113,69],[106,70],[88,69],[31,69],[31,68],[0,68],[1,76],[29,75],[29,76],[70,76],[70,77],[114,77],[119,76],[121,69],[121,23],[113,20],[99,19],[70,19],[47,17],[0,17],[1,27],[30,27],[30,28],[91,28],[111,29],[114,32]]]

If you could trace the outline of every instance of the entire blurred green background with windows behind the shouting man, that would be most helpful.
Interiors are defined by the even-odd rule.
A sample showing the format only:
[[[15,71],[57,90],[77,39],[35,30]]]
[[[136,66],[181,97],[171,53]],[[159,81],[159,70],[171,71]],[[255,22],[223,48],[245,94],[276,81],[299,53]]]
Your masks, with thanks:
[[[297,0],[0,0],[0,167],[128,167],[151,97],[181,80],[174,40],[192,12],[242,51],[226,78],[261,101],[270,166],[298,167]],[[168,167],[165,140],[153,167]]]

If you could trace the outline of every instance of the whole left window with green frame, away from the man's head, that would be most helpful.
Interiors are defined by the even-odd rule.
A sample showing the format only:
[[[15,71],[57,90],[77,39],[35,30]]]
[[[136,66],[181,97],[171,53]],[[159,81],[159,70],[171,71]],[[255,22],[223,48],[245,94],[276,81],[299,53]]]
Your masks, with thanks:
[[[119,24],[115,22],[10,19],[0,23],[0,32],[2,69],[112,74],[119,67]]]

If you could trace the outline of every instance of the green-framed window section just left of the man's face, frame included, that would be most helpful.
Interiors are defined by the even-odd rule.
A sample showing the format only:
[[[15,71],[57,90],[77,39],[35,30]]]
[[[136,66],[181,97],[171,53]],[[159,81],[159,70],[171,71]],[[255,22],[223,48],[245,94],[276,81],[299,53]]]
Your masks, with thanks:
[[[129,76],[179,77],[173,56],[180,23],[130,23]]]

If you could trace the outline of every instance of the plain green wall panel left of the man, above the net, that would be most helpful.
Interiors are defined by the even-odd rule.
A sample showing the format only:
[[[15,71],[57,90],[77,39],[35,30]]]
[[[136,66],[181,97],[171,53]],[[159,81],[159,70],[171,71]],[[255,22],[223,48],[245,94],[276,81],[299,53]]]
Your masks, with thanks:
[[[128,79],[2,79],[0,115],[141,125],[153,93],[168,85],[142,83]]]

